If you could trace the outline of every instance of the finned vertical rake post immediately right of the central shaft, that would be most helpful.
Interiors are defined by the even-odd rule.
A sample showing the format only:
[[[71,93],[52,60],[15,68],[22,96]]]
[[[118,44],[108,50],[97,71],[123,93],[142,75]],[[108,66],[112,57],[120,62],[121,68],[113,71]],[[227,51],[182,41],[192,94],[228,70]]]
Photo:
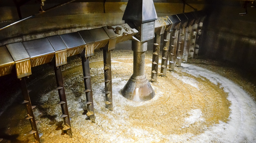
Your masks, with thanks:
[[[152,82],[157,82],[158,61],[159,61],[159,54],[160,54],[160,41],[161,41],[161,35],[158,35],[155,33],[153,58],[152,58],[152,72],[151,72]]]

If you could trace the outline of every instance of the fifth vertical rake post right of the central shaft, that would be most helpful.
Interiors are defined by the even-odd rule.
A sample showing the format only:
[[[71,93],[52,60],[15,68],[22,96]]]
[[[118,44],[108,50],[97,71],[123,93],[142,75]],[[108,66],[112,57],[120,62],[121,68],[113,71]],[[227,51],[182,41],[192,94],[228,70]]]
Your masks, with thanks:
[[[189,46],[190,46],[190,39],[191,39],[191,32],[192,32],[192,26],[189,25],[188,27],[186,27],[183,55],[182,55],[182,59],[181,59],[182,63],[187,63]]]

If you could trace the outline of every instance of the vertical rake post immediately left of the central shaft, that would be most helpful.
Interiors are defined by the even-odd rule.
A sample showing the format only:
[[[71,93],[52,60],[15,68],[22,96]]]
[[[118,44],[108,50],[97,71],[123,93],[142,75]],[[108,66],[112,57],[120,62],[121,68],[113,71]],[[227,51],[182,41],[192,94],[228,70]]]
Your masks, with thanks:
[[[106,107],[113,110],[112,102],[112,75],[111,75],[111,50],[108,51],[108,44],[103,48],[105,98]]]

